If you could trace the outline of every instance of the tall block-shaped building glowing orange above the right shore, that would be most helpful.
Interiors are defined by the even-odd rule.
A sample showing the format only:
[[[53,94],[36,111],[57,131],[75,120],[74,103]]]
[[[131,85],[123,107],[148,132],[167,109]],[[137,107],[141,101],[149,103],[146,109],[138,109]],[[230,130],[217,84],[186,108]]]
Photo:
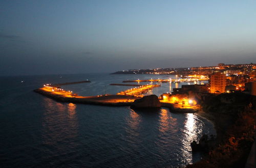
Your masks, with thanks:
[[[224,93],[226,87],[226,75],[220,72],[210,75],[210,93]]]

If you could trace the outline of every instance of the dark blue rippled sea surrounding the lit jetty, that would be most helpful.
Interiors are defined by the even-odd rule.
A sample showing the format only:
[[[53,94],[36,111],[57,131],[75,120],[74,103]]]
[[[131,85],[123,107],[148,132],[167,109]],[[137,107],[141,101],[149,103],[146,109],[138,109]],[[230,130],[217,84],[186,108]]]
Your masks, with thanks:
[[[198,161],[200,154],[192,154],[189,144],[215,130],[195,114],[175,114],[167,108],[134,111],[61,103],[33,92],[45,83],[89,79],[91,83],[62,88],[83,96],[115,94],[131,87],[110,83],[170,77],[174,78],[109,74],[0,77],[0,166],[176,167]],[[163,83],[153,94],[159,96],[181,85]]]

